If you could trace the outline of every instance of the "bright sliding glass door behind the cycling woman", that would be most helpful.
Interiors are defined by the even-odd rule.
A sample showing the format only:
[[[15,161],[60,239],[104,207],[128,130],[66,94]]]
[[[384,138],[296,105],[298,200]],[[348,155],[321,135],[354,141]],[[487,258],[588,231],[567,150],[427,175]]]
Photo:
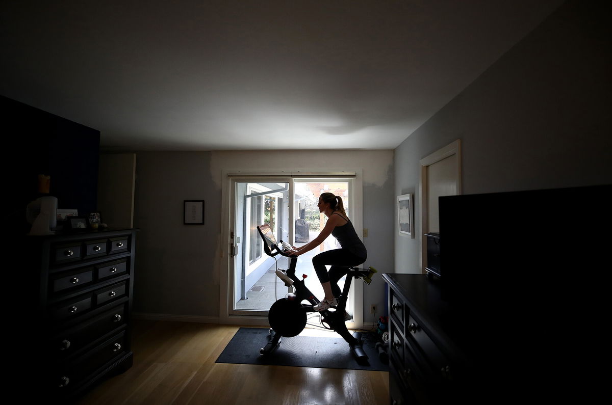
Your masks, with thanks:
[[[305,245],[318,236],[327,217],[319,213],[321,193],[329,191],[341,196],[349,217],[353,204],[353,179],[231,179],[232,212],[230,223],[230,280],[233,281],[230,314],[265,315],[275,300],[285,297],[288,288],[275,270],[287,269],[288,259],[267,256],[257,226],[267,223],[277,240],[294,246]],[[319,299],[323,288],[312,268],[312,258],[321,251],[338,248],[333,236],[299,257],[296,274],[305,276],[305,283]],[[340,281],[340,288],[344,279]],[[347,305],[353,313],[353,294]]]

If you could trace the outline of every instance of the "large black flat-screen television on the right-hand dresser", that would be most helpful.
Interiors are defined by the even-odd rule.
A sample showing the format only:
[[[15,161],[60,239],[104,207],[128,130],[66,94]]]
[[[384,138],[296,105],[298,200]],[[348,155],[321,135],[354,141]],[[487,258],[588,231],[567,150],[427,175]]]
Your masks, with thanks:
[[[515,295],[610,267],[612,185],[439,198],[447,297]],[[603,266],[603,267],[602,267]]]

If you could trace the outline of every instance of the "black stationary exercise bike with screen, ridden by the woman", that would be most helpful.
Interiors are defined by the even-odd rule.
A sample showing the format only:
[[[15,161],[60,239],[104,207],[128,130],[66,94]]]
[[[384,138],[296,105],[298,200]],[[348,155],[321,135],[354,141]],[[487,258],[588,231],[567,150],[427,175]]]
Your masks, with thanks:
[[[313,307],[321,302],[315,297],[315,294],[310,292],[304,280],[296,277],[297,256],[291,255],[291,252],[294,251],[291,249],[291,246],[282,240],[280,240],[279,245],[272,229],[267,224],[259,225],[257,230],[259,231],[259,236],[264,240],[266,255],[271,257],[282,255],[289,258],[289,269],[277,270],[277,276],[285,281],[285,286],[293,287],[295,291],[288,293],[285,298],[278,299],[269,310],[268,321],[271,326],[271,340],[266,344],[266,347],[259,349],[260,355],[267,355],[278,346],[281,337],[291,338],[299,335],[306,326],[307,313],[316,312]],[[371,277],[376,272],[376,269],[373,267],[368,269],[349,267],[342,294],[340,297],[337,297],[337,307],[319,311],[319,314],[321,314],[321,324],[326,329],[335,330],[338,335],[342,336],[357,358],[357,363],[366,362],[368,356],[365,354],[364,349],[362,349],[361,342],[346,329],[346,300],[353,278],[362,278],[364,283],[370,284]],[[304,303],[304,301],[308,303]]]

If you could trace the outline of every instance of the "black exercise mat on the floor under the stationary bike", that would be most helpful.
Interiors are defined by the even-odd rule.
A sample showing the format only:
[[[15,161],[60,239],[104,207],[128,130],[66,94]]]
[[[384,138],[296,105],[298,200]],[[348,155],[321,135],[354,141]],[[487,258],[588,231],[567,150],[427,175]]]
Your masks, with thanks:
[[[364,335],[362,346],[368,355],[367,363],[364,364],[357,363],[351,347],[340,336],[282,337],[278,347],[261,356],[259,349],[271,340],[269,329],[262,328],[240,328],[225,346],[216,363],[389,371],[389,366],[379,359],[376,349],[377,336],[372,332],[359,334]]]

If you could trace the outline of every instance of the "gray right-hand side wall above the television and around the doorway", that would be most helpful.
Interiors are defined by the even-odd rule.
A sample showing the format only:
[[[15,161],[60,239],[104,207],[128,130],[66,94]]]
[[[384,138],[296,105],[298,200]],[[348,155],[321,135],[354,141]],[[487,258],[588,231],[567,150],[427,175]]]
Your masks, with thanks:
[[[610,24],[567,2],[395,150],[395,193],[419,160],[461,139],[463,194],[612,183]],[[417,217],[418,218],[418,217]],[[526,224],[526,230],[529,224]],[[417,237],[395,236],[395,270],[419,272]]]

